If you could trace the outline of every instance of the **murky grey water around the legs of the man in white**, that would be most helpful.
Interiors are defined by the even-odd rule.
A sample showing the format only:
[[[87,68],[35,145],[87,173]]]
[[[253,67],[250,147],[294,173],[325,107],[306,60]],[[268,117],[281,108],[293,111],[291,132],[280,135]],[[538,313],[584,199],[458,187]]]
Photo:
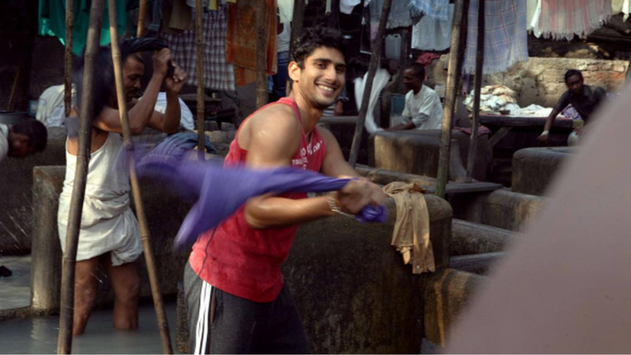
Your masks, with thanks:
[[[165,303],[175,350],[175,301]],[[0,322],[0,354],[55,354],[59,316]],[[153,303],[139,307],[135,331],[112,327],[112,309],[92,313],[85,334],[73,339],[73,354],[162,354]]]

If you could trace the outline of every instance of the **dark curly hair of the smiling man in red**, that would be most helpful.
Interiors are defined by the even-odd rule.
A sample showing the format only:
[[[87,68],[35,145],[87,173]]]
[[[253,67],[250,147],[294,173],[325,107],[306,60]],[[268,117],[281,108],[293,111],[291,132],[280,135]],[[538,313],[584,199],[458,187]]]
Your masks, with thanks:
[[[298,63],[300,68],[305,67],[305,58],[309,57],[315,49],[329,47],[345,52],[342,35],[337,30],[326,27],[310,27],[303,30],[302,35],[295,42],[292,52],[292,61]]]

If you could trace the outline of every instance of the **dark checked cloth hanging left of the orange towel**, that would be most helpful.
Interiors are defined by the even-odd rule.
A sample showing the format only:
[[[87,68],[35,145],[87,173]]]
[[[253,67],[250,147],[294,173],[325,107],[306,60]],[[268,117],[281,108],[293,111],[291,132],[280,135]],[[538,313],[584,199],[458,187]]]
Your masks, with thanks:
[[[234,91],[234,69],[226,61],[226,5],[203,13],[204,87],[219,91]],[[182,33],[162,33],[175,63],[188,75],[187,84],[197,86],[197,44],[195,30]]]

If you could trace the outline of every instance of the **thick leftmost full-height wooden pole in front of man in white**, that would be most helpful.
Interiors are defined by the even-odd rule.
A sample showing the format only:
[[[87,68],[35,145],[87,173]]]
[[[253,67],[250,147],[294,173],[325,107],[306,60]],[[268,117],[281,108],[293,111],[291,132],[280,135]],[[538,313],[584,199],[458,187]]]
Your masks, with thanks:
[[[92,0],[90,8],[90,25],[85,49],[85,66],[83,68],[83,92],[81,95],[81,114],[79,121],[79,150],[74,170],[73,196],[70,201],[68,230],[66,233],[66,253],[61,268],[61,311],[59,315],[59,337],[57,354],[70,354],[73,341],[74,317],[74,267],[76,265],[79,231],[81,228],[81,212],[85,184],[90,165],[90,147],[92,141],[92,117],[94,102],[92,100],[95,62],[97,61],[98,43],[101,37],[103,20],[103,0]]]

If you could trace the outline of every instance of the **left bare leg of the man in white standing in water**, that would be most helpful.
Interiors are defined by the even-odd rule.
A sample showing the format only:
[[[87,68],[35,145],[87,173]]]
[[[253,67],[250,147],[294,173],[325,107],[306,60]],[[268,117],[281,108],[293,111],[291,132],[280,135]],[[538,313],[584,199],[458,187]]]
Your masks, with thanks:
[[[73,335],[83,334],[97,301],[98,257],[81,260],[74,268]]]

